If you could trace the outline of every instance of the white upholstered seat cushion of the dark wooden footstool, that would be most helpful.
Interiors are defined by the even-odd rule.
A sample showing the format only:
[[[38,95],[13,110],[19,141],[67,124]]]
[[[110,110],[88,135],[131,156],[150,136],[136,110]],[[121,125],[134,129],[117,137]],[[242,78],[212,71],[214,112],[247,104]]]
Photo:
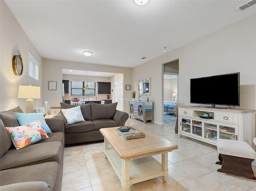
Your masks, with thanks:
[[[220,154],[256,159],[256,152],[244,141],[218,139],[217,149]]]

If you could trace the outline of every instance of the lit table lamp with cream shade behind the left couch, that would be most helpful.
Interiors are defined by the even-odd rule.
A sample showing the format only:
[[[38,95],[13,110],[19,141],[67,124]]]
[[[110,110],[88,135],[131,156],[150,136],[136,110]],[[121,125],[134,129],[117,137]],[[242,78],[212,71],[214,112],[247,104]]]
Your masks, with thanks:
[[[26,113],[33,113],[34,112],[33,99],[40,98],[40,87],[31,86],[31,85],[19,86],[18,98],[27,98]]]

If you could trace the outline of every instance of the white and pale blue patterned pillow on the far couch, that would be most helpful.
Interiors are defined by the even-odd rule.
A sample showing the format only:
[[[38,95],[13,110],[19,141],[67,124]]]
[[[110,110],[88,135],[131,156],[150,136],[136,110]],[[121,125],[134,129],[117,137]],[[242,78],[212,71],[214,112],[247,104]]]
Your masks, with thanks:
[[[67,124],[69,124],[69,125],[85,121],[84,116],[82,115],[80,106],[72,107],[72,108],[68,108],[68,109],[61,109],[61,112],[63,113],[63,115],[67,121]]]

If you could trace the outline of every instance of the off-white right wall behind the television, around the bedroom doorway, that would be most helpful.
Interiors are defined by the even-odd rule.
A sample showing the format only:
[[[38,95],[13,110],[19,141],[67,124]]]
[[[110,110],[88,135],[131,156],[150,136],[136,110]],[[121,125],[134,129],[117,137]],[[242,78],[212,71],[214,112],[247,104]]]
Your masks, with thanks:
[[[139,79],[151,77],[149,100],[154,101],[154,122],[163,124],[163,64],[176,59],[178,100],[183,104],[190,104],[191,78],[240,72],[240,108],[256,109],[255,34],[256,14],[134,67],[134,85]]]

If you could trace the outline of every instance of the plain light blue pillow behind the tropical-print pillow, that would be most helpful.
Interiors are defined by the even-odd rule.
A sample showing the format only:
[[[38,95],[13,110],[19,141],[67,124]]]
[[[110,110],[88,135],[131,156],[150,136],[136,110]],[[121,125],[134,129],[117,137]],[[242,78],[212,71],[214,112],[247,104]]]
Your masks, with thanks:
[[[48,125],[46,124],[46,122],[44,120],[44,115],[42,114],[42,112],[40,112],[40,113],[15,112],[15,113],[16,113],[16,116],[18,118],[18,122],[20,125],[27,125],[27,124],[30,124],[31,122],[39,120],[42,124],[42,128],[44,129],[44,131],[47,134],[52,133],[52,131],[50,130],[50,128],[48,127]]]

